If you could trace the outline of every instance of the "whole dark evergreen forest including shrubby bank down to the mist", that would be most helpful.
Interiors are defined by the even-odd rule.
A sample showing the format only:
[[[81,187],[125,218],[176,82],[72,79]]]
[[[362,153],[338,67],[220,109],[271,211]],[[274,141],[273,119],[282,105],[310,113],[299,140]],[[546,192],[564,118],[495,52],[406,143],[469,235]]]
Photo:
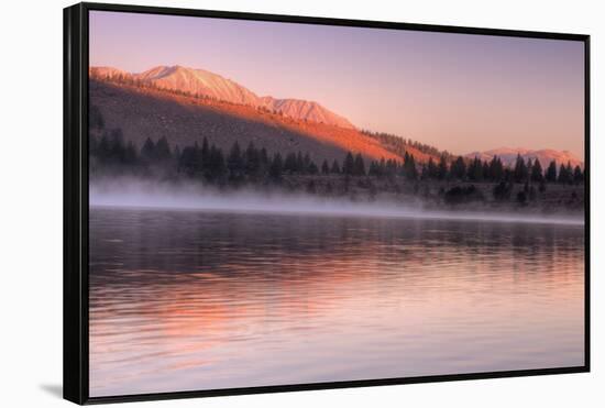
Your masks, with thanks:
[[[90,118],[90,125],[98,126],[96,114]],[[396,196],[410,192],[446,205],[486,200],[526,205],[540,195],[546,197],[549,185],[562,191],[565,186],[578,187],[584,183],[584,170],[580,166],[551,162],[543,168],[538,159],[526,161],[520,155],[512,167],[503,165],[497,156],[487,162],[441,154],[438,161],[417,163],[414,155],[405,151],[399,162],[367,162],[359,152],[346,152],[341,161],[316,163],[308,152],[270,154],[254,143],[241,146],[235,142],[223,152],[206,137],[201,144],[196,142],[183,147],[172,146],[166,137],[147,139],[138,148],[125,140],[120,129],[91,133],[89,153],[92,179],[116,175],[191,179],[220,188],[271,186],[371,200],[382,192]],[[578,201],[576,191],[571,199]]]

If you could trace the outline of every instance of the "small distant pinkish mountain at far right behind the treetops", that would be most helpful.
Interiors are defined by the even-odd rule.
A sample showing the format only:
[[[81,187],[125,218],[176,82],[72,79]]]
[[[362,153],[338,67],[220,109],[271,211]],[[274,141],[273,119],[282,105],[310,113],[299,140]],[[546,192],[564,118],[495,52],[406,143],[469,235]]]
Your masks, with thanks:
[[[540,164],[542,167],[548,166],[548,164],[552,161],[557,162],[557,165],[560,164],[568,164],[568,162],[573,166],[580,166],[584,167],[584,162],[575,156],[573,153],[569,151],[556,151],[551,148],[542,148],[542,150],[529,150],[529,148],[510,148],[510,147],[499,147],[499,148],[493,148],[491,151],[485,152],[473,152],[465,155],[465,157],[474,158],[479,157],[482,161],[491,161],[494,156],[498,156],[504,165],[513,166],[515,165],[515,161],[517,159],[517,155],[521,155],[524,159],[531,158],[535,161],[538,158],[540,161]]]

